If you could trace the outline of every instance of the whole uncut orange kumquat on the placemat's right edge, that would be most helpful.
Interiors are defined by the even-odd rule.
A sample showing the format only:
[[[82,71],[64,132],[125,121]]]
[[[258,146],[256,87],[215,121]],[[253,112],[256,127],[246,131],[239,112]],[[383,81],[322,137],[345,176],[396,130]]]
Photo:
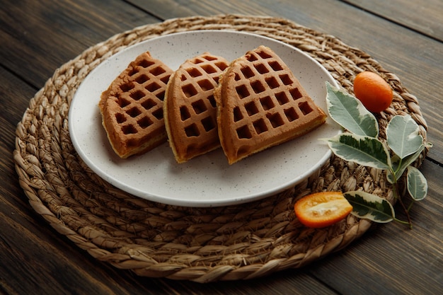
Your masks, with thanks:
[[[355,76],[354,94],[370,112],[386,110],[393,98],[391,86],[372,71],[362,71]]]

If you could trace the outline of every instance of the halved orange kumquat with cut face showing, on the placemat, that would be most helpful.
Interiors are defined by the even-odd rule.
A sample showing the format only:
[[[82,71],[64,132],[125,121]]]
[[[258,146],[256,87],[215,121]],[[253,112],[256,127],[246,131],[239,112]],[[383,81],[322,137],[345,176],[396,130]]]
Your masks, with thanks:
[[[337,223],[352,211],[342,192],[317,192],[294,204],[297,218],[304,226],[322,228]]]

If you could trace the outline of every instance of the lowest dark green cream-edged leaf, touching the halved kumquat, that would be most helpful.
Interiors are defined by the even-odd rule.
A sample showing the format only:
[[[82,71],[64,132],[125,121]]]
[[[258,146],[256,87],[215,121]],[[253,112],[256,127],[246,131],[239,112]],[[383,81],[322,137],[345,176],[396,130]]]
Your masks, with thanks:
[[[379,223],[395,219],[394,209],[386,199],[367,192],[345,192],[343,194],[352,205],[352,215]]]

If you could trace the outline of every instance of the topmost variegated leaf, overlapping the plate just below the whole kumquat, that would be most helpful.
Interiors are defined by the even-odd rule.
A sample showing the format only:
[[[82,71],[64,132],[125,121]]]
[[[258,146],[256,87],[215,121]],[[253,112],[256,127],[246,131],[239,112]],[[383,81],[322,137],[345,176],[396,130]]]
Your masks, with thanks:
[[[343,128],[357,135],[377,137],[379,125],[360,100],[326,82],[326,104],[330,117]]]

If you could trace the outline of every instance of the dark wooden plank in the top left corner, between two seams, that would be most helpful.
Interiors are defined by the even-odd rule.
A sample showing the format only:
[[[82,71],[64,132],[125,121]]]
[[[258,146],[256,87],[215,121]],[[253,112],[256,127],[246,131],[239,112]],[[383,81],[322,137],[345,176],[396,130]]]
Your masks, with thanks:
[[[0,58],[6,68],[38,88],[88,47],[159,21],[118,0],[21,2],[7,1],[0,11]]]

